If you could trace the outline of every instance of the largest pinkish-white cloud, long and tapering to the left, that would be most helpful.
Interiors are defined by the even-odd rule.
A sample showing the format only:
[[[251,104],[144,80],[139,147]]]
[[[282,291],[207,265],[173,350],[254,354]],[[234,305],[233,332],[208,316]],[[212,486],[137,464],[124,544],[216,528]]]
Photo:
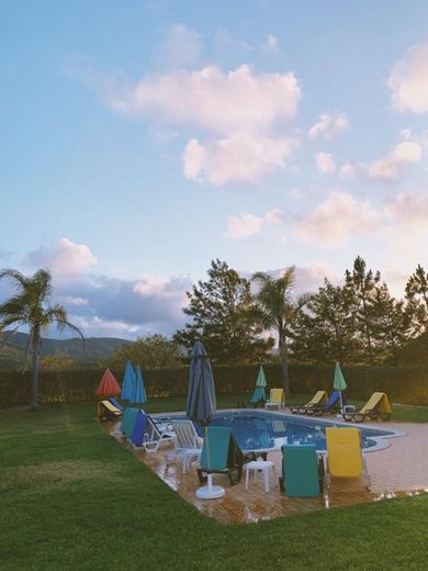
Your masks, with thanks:
[[[257,75],[244,65],[225,74],[207,66],[147,76],[111,104],[124,113],[158,114],[172,123],[228,135],[292,119],[300,97],[292,72]]]

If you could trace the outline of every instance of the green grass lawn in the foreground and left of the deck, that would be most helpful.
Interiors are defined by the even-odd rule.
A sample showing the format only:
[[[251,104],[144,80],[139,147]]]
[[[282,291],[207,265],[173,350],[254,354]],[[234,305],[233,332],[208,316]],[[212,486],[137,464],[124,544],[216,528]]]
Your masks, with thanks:
[[[182,406],[171,399],[147,410]],[[94,411],[0,413],[3,571],[427,568],[427,494],[222,526],[117,445]]]

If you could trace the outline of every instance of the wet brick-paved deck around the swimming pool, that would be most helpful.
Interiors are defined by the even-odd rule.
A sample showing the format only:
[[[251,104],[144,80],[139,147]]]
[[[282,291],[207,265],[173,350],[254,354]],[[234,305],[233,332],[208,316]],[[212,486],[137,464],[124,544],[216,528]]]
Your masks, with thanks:
[[[392,422],[364,424],[406,433],[405,436],[388,438],[387,448],[367,452],[371,475],[370,492],[365,490],[362,478],[349,480],[331,478],[328,494],[316,499],[291,499],[280,493],[278,479],[274,481],[273,475],[270,478],[270,491],[264,492],[261,475],[255,483],[251,474],[249,488],[246,490],[245,473],[243,480],[234,486],[230,486],[226,475],[214,474],[214,483],[225,489],[225,496],[218,500],[198,500],[195,491],[200,483],[194,466],[183,474],[181,462],[167,463],[166,457],[172,450],[170,446],[162,447],[158,452],[145,454],[133,450],[133,454],[185,501],[223,524],[259,522],[428,492],[428,424]],[[114,436],[115,429],[110,427],[110,432]],[[121,437],[115,436],[115,438],[132,450]],[[274,462],[277,474],[281,474],[281,452],[269,452],[268,460]]]

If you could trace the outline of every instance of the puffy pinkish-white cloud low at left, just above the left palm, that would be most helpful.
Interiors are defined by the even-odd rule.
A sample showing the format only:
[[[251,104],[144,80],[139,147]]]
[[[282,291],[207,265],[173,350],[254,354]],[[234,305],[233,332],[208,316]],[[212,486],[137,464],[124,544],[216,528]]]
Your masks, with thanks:
[[[48,268],[55,280],[72,279],[97,265],[98,260],[86,244],[61,238],[55,247],[41,247],[26,257],[32,267]]]

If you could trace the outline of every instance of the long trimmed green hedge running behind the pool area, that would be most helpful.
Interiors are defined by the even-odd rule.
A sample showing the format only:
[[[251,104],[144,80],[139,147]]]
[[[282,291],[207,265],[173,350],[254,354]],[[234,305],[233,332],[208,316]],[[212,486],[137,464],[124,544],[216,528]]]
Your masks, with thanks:
[[[263,366],[268,388],[281,387],[281,367]],[[214,367],[217,394],[245,394],[254,390],[258,366]],[[392,402],[428,405],[428,366],[414,367],[342,367],[350,399],[367,400],[373,391],[386,392]],[[93,401],[103,370],[41,371],[38,401],[66,403]],[[123,371],[113,371],[122,379]],[[292,393],[313,393],[318,389],[331,391],[331,366],[291,365]],[[183,396],[188,391],[189,368],[144,371],[149,398]],[[30,402],[31,372],[0,371],[0,406]]]

